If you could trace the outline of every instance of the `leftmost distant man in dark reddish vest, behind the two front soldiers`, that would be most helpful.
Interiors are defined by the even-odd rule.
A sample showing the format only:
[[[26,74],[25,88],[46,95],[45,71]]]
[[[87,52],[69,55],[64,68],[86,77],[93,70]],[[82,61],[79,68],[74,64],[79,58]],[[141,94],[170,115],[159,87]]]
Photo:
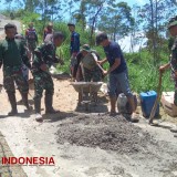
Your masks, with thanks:
[[[38,35],[32,22],[29,24],[29,29],[25,30],[25,39],[27,46],[30,50],[33,60],[34,49],[38,44]]]

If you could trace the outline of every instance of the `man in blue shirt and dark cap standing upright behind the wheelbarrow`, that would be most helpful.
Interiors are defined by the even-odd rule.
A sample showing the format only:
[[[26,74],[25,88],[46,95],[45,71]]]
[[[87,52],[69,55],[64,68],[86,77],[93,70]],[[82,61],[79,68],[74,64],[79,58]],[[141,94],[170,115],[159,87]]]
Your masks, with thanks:
[[[80,34],[75,32],[75,24],[67,23],[69,30],[71,32],[71,43],[70,43],[70,54],[71,54],[71,75],[72,80],[75,80],[74,66],[76,64],[76,54],[80,52]]]

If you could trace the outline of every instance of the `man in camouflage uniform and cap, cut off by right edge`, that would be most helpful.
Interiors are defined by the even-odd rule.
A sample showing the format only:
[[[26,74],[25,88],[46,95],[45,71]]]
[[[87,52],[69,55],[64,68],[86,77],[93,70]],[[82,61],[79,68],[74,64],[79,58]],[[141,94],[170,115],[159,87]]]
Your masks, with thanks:
[[[174,104],[177,106],[177,15],[169,20],[168,30],[171,37],[175,38],[174,44],[171,46],[170,61],[169,63],[162,65],[159,71],[164,72],[166,69],[171,69],[171,77],[175,82]]]

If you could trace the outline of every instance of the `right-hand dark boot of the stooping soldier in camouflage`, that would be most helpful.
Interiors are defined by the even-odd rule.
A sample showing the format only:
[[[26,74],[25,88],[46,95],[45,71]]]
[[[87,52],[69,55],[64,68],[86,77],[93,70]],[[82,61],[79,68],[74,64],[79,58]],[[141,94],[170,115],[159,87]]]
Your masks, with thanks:
[[[56,114],[59,111],[55,111],[52,106],[53,95],[45,95],[45,114]]]

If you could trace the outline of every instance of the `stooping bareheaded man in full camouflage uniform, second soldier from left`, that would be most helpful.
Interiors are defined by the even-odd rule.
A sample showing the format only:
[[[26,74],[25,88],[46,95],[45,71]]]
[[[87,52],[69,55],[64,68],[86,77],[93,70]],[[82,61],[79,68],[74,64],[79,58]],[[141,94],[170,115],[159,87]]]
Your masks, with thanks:
[[[51,34],[52,35],[52,34]],[[49,38],[51,39],[51,38]],[[56,32],[53,34],[52,41],[45,40],[41,46],[37,48],[34,51],[34,60],[32,63],[32,74],[34,77],[34,107],[35,107],[35,119],[41,122],[41,97],[42,92],[45,90],[45,113],[56,113],[53,108],[53,93],[54,86],[49,69],[53,63],[61,62],[56,55],[55,50],[63,42],[63,34]],[[63,63],[61,63],[63,64]]]

